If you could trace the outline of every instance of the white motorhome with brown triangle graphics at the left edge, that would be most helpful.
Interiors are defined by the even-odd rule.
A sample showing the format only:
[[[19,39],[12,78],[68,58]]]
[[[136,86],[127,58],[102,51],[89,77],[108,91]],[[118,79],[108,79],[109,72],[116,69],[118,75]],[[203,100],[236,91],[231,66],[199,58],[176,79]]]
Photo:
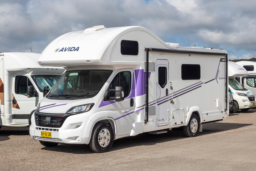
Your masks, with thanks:
[[[62,67],[40,66],[39,56],[0,53],[0,128],[29,126],[29,117],[43,98],[44,87],[52,87],[65,71]]]

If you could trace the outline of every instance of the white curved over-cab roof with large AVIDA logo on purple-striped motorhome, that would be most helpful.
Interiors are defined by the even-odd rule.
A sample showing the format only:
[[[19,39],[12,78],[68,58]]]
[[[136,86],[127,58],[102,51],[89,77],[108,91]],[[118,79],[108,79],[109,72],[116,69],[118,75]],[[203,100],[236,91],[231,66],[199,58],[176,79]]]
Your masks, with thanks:
[[[120,53],[122,40],[137,41],[139,46],[138,55],[122,55]],[[168,45],[146,28],[139,26],[113,28],[94,26],[59,36],[44,49],[38,62],[42,66],[68,67],[138,64],[145,61],[144,47],[220,52],[177,46],[178,44],[175,44],[175,46],[174,44]]]

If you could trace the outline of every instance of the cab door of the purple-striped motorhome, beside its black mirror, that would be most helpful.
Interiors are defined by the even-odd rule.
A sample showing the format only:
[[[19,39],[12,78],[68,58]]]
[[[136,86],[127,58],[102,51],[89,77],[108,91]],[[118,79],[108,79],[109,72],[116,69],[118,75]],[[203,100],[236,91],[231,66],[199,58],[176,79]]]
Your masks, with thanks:
[[[115,120],[117,135],[130,134],[134,116],[135,106],[135,83],[133,69],[121,69],[113,77],[109,89],[116,86],[123,87],[124,100],[116,102],[111,100],[107,102],[108,117]],[[114,93],[111,95],[114,96]]]

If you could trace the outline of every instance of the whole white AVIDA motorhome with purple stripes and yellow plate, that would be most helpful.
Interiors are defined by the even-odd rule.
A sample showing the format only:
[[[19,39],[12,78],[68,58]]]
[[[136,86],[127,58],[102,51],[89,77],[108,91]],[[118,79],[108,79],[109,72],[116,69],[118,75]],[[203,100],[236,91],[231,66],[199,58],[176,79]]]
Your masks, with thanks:
[[[227,57],[167,44],[138,26],[62,35],[38,60],[67,71],[31,117],[31,138],[106,152],[114,139],[144,132],[183,127],[196,136],[201,123],[228,117]]]

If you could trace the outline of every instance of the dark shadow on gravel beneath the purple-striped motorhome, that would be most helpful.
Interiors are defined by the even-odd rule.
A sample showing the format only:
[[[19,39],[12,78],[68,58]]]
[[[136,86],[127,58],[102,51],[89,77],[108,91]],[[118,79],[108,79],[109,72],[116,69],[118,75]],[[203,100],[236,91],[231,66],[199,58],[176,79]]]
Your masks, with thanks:
[[[221,123],[221,122],[212,122],[207,124],[202,124],[203,132],[200,132],[198,136],[204,136],[212,133],[222,132],[226,130],[238,129],[241,127],[249,126],[252,124],[238,124],[238,123]],[[123,148],[130,148],[134,146],[144,146],[144,145],[155,145],[157,143],[163,143],[168,141],[173,141],[177,139],[187,138],[183,131],[179,129],[168,131],[163,134],[149,134],[143,133],[133,137],[125,137],[117,139],[114,141],[114,144],[110,151],[115,151]],[[50,150],[56,152],[64,153],[73,153],[73,154],[90,154],[92,153],[89,145],[66,145],[59,144],[56,147],[42,147],[43,150]]]

